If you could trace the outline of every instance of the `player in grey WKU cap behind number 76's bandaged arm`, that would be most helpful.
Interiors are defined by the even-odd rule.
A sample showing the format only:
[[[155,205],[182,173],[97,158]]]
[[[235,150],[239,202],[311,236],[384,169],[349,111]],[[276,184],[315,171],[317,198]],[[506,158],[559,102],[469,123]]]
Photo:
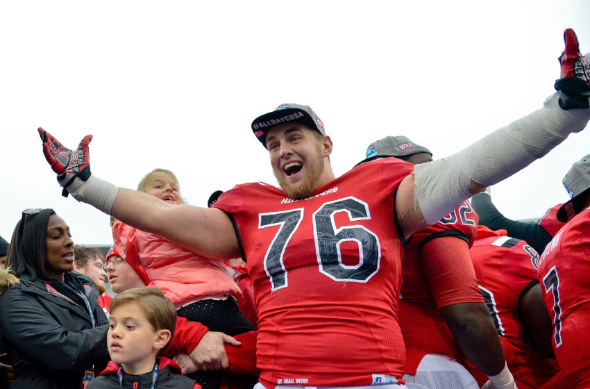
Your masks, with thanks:
[[[367,158],[389,156],[414,165],[432,160],[430,150],[405,136],[387,136],[366,150]],[[479,388],[460,363],[461,350],[488,374],[505,364],[469,256],[477,223],[478,215],[464,201],[436,224],[414,233],[405,247],[399,321],[408,383],[431,389]]]

